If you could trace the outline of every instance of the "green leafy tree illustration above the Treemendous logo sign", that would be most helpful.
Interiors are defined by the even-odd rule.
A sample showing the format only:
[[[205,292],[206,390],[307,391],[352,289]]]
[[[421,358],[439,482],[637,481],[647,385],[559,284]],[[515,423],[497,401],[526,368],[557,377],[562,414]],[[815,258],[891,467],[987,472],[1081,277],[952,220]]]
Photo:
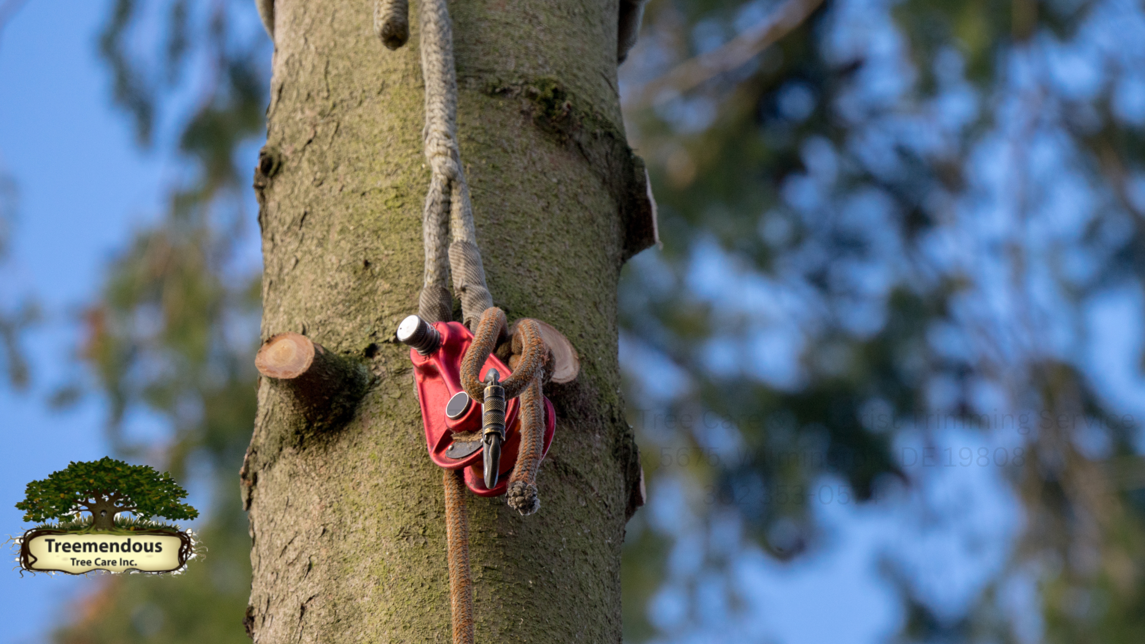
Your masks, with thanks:
[[[111,531],[118,512],[132,512],[144,520],[198,517],[198,510],[180,503],[185,497],[187,490],[167,472],[104,456],[72,462],[46,479],[27,484],[24,501],[16,509],[24,511],[25,521],[64,519],[86,510],[92,513],[92,529]]]

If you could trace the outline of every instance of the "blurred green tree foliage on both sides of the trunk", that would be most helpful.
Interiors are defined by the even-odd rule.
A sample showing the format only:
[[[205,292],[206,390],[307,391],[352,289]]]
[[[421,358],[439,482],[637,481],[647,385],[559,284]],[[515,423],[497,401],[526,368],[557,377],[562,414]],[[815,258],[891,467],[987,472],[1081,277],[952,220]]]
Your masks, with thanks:
[[[800,2],[806,19],[737,62],[753,41],[737,37]],[[258,290],[234,257],[252,219],[234,159],[262,133],[269,44],[248,0],[110,7],[116,104],[142,146],[177,141],[189,179],[112,266],[84,355],[120,454],[207,472],[210,552],[180,579],[106,580],[57,639],[239,642]],[[814,549],[822,481],[847,500],[925,488],[897,449],[941,449],[956,422],[1021,455],[1004,476],[1025,527],[954,616],[889,559],[898,637],[1029,641],[1003,600],[1025,580],[1035,639],[1136,641],[1136,425],[1039,421],[1122,411],[1085,376],[1085,307],[1139,292],[1145,269],[1143,36],[1120,0],[653,0],[622,68],[626,100],[657,88],[626,112],[664,241],[630,262],[621,298],[650,490],[625,547],[626,639],[747,639],[705,621],[712,588],[727,610],[711,614],[750,608],[737,553]],[[697,55],[698,80],[673,86]],[[1000,432],[998,408],[1033,425]],[[141,410],[168,421],[168,442],[128,440]],[[685,598],[671,623],[648,608],[665,589]]]

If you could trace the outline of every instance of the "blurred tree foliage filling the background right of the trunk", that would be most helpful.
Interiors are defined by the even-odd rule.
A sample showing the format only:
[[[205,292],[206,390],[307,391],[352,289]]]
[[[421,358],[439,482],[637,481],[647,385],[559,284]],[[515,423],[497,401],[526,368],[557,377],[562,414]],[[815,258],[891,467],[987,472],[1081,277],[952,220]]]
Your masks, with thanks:
[[[1004,471],[1025,532],[955,618],[889,560],[900,639],[1135,641],[1137,427],[1108,422],[1126,411],[1083,370],[1091,298],[1140,289],[1142,8],[836,0],[749,63],[673,86],[799,2],[654,1],[622,68],[622,94],[657,88],[627,116],[664,239],[621,297],[630,405],[662,410],[631,417],[653,505],[630,524],[626,636],[718,633],[713,587],[743,607],[729,515],[796,556],[816,541],[812,484],[925,488],[895,446],[941,450],[961,425],[1018,456]],[[998,409],[1027,422],[1000,427]],[[697,548],[702,566],[672,563]],[[1035,588],[1018,608],[1001,597],[1016,580]],[[653,623],[665,588],[686,602]],[[1019,636],[1021,621],[1040,626]]]

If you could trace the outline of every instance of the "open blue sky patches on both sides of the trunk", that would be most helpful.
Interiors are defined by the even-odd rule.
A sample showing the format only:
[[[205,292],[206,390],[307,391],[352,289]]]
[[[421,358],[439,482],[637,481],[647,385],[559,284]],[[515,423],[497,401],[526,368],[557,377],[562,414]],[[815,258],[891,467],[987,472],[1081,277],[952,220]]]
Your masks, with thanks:
[[[21,190],[11,257],[0,266],[0,304],[34,293],[45,311],[45,322],[26,341],[32,388],[0,388],[7,447],[0,454],[0,534],[6,535],[26,527],[13,503],[27,481],[69,461],[108,453],[102,401],[88,396],[74,409],[52,413],[45,399],[53,387],[81,376],[70,354],[80,333],[78,313],[95,298],[108,261],[131,231],[160,212],[165,186],[180,170],[169,160],[169,150],[140,151],[128,120],[111,108],[109,73],[95,55],[95,37],[106,13],[105,1],[33,0],[0,40],[0,167]],[[253,157],[256,149],[248,146],[243,154]],[[244,163],[253,166],[253,159]],[[697,266],[697,274],[702,268]],[[1090,374],[1114,406],[1135,414],[1142,414],[1138,406],[1145,398],[1134,362],[1140,333],[1130,325],[1142,317],[1142,299],[1137,290],[1112,292],[1097,298],[1089,315],[1093,335],[1105,338],[1088,355]],[[622,347],[622,359],[633,370],[661,367],[655,355],[635,345]],[[784,380],[783,374],[775,378]],[[153,425],[135,418],[136,430],[161,431]],[[1012,449],[1014,438],[950,431],[937,440],[977,451]],[[901,441],[900,449],[921,449],[918,437],[907,434]],[[656,481],[643,510],[649,524],[677,539],[668,583],[649,606],[653,622],[679,642],[881,642],[902,619],[898,597],[879,572],[889,553],[925,599],[957,613],[1003,565],[1020,529],[1020,511],[996,470],[926,473],[933,476],[917,489],[879,504],[821,504],[816,512],[827,527],[823,548],[784,565],[744,541],[734,519],[702,525],[690,517],[687,485],[669,472]],[[720,543],[735,552],[735,574],[726,579],[709,575],[702,561],[690,558],[697,544]],[[41,641],[65,616],[69,600],[97,582],[0,572],[6,616],[0,644]],[[724,603],[727,586],[748,602],[747,611]],[[1004,592],[1012,596],[1014,611],[1030,613],[1028,588],[1019,583]],[[704,618],[684,619],[689,607]],[[1036,637],[1036,623],[1024,628]]]

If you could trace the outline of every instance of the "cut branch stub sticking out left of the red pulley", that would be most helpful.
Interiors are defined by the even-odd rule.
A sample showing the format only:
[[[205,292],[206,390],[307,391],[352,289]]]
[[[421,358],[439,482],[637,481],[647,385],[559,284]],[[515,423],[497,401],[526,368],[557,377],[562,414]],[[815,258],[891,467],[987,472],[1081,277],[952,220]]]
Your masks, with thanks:
[[[370,385],[363,364],[294,332],[267,340],[254,367],[287,394],[306,425],[316,431],[348,421]]]

